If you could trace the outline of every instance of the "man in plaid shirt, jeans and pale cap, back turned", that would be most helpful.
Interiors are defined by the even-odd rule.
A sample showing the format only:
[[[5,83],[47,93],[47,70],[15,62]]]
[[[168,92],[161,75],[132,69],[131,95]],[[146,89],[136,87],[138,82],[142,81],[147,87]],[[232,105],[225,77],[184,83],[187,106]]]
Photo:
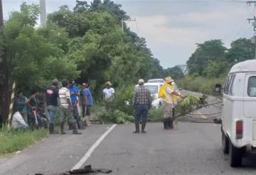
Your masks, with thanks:
[[[139,133],[139,122],[142,120],[142,133],[146,133],[146,121],[148,118],[149,108],[151,108],[151,96],[148,89],[144,86],[144,80],[139,79],[139,87],[134,92],[133,105],[136,110],[135,131]]]

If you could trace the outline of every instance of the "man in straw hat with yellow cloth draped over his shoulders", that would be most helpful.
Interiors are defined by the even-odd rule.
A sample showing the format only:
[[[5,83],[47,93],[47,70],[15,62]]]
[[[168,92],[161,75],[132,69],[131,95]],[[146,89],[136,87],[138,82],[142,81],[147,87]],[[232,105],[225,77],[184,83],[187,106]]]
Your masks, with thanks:
[[[173,129],[174,128],[174,120],[173,120],[173,108],[174,104],[177,101],[178,97],[185,98],[180,93],[175,91],[175,86],[173,85],[174,79],[171,77],[166,77],[164,79],[165,83],[161,87],[160,91],[164,91],[164,102],[163,102],[163,109],[164,109],[164,129]]]

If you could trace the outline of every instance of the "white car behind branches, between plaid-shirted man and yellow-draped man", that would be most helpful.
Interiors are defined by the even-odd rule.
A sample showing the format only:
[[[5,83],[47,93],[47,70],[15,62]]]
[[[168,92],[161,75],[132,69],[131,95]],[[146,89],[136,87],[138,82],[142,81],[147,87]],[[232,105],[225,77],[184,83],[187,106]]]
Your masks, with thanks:
[[[158,98],[159,90],[164,83],[145,83],[146,89],[149,89],[152,98],[152,107],[159,108],[163,102],[163,98]],[[139,86],[137,84],[135,89]]]

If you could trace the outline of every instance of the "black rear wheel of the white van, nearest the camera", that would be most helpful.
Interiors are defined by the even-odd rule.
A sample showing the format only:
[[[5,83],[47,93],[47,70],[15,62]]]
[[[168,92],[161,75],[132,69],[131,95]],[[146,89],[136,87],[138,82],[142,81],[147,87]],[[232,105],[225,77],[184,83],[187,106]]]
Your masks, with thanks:
[[[243,148],[234,147],[230,142],[229,152],[230,152],[230,166],[238,167],[242,165],[242,155],[244,152]]]

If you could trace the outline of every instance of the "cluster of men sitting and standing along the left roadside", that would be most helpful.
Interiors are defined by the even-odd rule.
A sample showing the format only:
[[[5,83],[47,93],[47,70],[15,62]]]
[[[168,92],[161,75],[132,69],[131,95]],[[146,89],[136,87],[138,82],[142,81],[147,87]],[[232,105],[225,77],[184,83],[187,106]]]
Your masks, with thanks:
[[[81,134],[78,129],[90,125],[90,108],[93,104],[92,94],[87,83],[82,83],[79,90],[75,81],[62,81],[62,87],[58,88],[58,80],[54,79],[52,85],[43,93],[43,100],[39,100],[39,91],[33,91],[29,98],[23,96],[22,91],[16,93],[14,98],[14,110],[11,119],[12,128],[27,129],[49,128],[50,134],[57,134],[54,130],[55,116],[60,111],[60,134],[65,134],[64,125],[68,125],[73,134]],[[59,99],[59,103],[58,103]],[[80,103],[82,106],[82,121],[80,118]],[[60,110],[58,110],[58,106]],[[46,111],[46,113],[45,113]]]

